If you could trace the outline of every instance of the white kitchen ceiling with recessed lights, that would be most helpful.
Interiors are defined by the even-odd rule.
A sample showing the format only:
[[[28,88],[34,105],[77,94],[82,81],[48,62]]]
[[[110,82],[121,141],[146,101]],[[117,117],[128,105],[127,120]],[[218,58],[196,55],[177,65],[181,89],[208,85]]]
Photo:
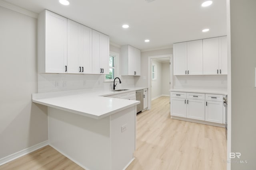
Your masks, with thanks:
[[[226,0],[212,0],[205,8],[205,0],[69,0],[69,6],[58,0],[5,1],[36,13],[48,9],[141,50],[226,35]],[[130,27],[122,28],[124,23]],[[202,33],[204,28],[210,31]]]

